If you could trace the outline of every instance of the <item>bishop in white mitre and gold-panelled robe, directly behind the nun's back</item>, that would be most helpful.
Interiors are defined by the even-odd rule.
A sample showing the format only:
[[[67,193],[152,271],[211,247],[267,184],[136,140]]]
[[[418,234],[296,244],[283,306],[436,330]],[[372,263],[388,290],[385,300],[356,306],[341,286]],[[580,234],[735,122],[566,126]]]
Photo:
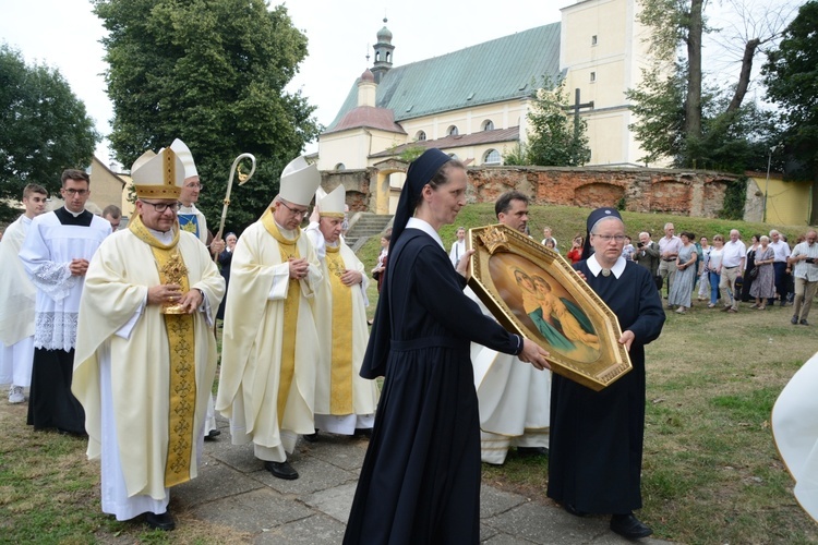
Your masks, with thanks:
[[[317,201],[310,237],[321,262],[324,286],[315,295],[318,371],[315,382],[315,429],[366,434],[375,423],[377,384],[360,375],[369,342],[363,263],[340,237],[346,191],[338,185]],[[308,440],[316,436],[306,436]]]

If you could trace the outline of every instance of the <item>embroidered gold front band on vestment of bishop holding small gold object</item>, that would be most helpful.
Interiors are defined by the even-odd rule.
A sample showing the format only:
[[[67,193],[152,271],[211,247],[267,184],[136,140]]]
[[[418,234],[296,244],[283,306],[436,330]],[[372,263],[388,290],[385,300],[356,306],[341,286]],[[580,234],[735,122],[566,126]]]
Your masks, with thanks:
[[[128,228],[136,238],[151,246],[160,283],[178,283],[182,293],[187,293],[190,284],[184,259],[177,250],[178,225],[170,244],[157,241],[145,228],[139,215],[134,216]],[[165,465],[165,486],[170,487],[191,479],[190,462],[196,409],[195,339],[192,315],[164,314],[163,316],[170,349],[168,458]]]

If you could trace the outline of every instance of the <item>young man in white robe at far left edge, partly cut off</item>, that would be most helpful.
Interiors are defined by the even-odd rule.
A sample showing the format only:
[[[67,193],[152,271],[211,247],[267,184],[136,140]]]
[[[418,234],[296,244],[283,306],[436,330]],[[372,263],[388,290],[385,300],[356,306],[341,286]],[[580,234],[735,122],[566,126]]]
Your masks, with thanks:
[[[0,384],[11,385],[9,403],[25,401],[24,388],[32,384],[37,289],[19,255],[32,219],[46,211],[47,199],[45,187],[26,185],[25,213],[5,229],[0,241]]]

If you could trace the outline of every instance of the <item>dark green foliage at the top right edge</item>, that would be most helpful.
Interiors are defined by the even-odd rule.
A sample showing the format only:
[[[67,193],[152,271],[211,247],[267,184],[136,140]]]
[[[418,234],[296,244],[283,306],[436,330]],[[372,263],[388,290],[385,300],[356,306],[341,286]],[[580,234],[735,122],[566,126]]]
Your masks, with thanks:
[[[781,108],[796,177],[818,178],[818,1],[804,3],[762,68],[767,98]]]

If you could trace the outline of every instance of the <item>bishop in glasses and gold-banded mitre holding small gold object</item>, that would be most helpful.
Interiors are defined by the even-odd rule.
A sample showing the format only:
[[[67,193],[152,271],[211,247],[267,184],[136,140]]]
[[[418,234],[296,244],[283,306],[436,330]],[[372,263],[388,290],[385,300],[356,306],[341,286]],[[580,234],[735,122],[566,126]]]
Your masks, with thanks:
[[[175,528],[169,488],[199,472],[225,294],[207,249],[179,228],[183,172],[169,148],[133,165],[136,213],[85,277],[72,385],[88,458],[101,459],[103,511],[146,513],[160,530]]]

